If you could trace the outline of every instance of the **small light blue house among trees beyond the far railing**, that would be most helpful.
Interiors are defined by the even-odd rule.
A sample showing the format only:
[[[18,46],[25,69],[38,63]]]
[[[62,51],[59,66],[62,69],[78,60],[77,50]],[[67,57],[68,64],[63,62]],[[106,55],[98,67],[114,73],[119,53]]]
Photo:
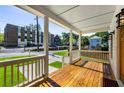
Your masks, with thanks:
[[[99,49],[100,46],[101,46],[101,41],[102,41],[102,38],[101,37],[98,37],[98,36],[94,36],[92,38],[90,38],[90,46],[89,48],[91,50],[94,50],[94,49]]]

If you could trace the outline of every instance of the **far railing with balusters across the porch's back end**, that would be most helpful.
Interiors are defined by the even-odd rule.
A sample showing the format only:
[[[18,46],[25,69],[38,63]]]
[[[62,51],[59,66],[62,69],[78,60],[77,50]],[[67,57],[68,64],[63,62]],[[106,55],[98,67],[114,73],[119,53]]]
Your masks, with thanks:
[[[109,62],[109,51],[92,51],[92,50],[82,50],[81,56],[99,59],[105,62]]]

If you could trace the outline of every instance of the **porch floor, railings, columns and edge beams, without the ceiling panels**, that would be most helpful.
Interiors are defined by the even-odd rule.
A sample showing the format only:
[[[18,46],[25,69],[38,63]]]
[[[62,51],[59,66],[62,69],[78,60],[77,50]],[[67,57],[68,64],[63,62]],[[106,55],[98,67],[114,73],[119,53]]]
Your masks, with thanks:
[[[54,13],[48,11],[44,6],[17,6],[23,10],[42,16],[44,15],[44,55],[31,58],[18,59],[12,61],[1,62],[0,67],[4,74],[2,86],[33,86],[33,87],[117,87],[113,72],[110,67],[110,51],[82,51],[81,36],[83,32],[89,31],[106,31],[107,26],[97,29],[77,29],[72,24],[57,17]],[[92,7],[91,7],[92,8]],[[111,7],[110,7],[111,8]],[[81,8],[82,9],[82,8]],[[79,9],[79,12],[82,11]],[[98,13],[101,10],[98,10]],[[112,12],[113,13],[113,12]],[[92,13],[91,13],[92,14]],[[69,15],[68,15],[69,16]],[[96,16],[94,14],[94,16]],[[82,18],[82,17],[81,17]],[[70,31],[69,36],[69,64],[61,69],[49,73],[49,21],[53,19],[55,23],[67,26]],[[101,18],[102,19],[102,18]],[[52,21],[53,21],[52,20]],[[95,22],[95,21],[94,21]],[[106,22],[105,22],[106,24]],[[78,49],[73,50],[73,33],[78,33]],[[81,56],[87,56],[99,59],[103,62],[94,60],[79,60]],[[11,69],[8,75],[7,69]],[[20,68],[21,73],[20,75]],[[16,72],[14,72],[16,69]],[[15,76],[15,73],[17,76]],[[10,76],[10,80],[8,80]],[[15,78],[16,77],[16,78]],[[21,79],[20,79],[21,77]],[[26,77],[26,78],[25,78]],[[16,84],[13,82],[16,79]],[[7,85],[7,82],[10,82]]]

